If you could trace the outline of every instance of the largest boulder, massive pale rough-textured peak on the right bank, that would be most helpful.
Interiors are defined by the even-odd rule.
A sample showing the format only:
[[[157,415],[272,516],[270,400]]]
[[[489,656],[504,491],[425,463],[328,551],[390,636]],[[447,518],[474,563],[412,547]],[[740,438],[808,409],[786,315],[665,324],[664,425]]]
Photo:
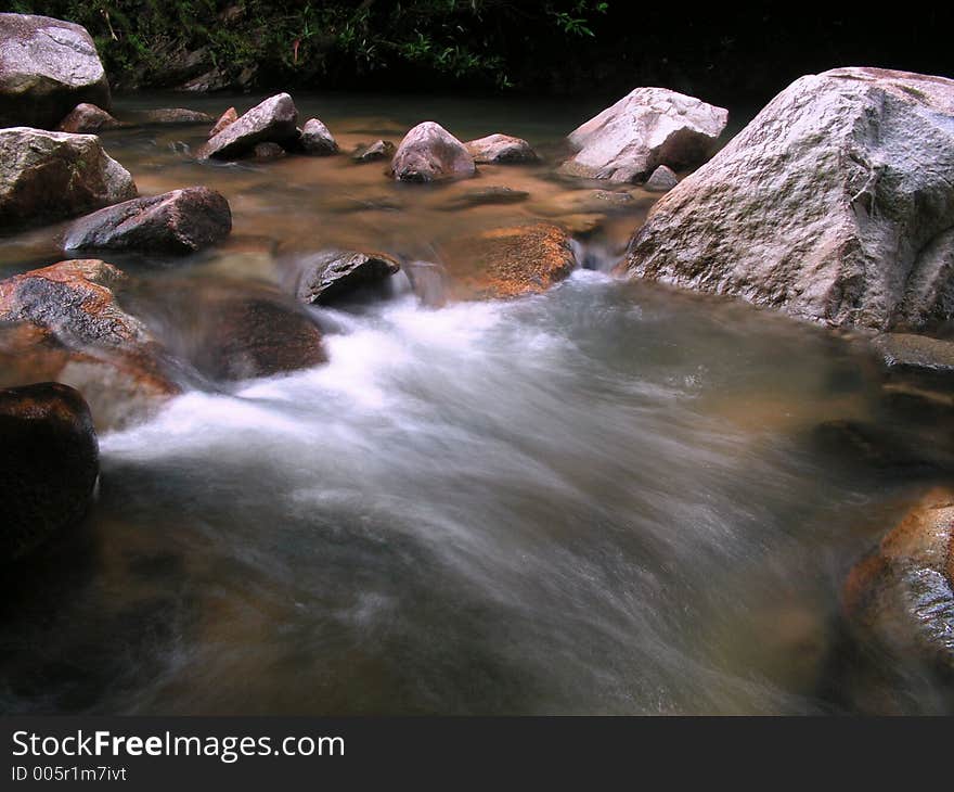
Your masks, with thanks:
[[[954,309],[954,80],[839,68],[796,80],[665,195],[630,274],[829,325]]]

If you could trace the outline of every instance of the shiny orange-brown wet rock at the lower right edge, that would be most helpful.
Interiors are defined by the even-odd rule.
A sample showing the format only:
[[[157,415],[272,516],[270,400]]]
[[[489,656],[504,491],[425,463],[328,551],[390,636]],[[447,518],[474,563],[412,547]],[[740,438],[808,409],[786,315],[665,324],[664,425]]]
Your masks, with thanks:
[[[854,638],[895,657],[918,656],[954,672],[954,493],[929,491],[842,592]]]

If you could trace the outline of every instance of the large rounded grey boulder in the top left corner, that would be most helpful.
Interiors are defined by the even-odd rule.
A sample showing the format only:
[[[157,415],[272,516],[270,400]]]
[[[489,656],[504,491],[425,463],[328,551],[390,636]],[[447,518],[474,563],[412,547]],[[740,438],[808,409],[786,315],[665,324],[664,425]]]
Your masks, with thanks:
[[[0,126],[52,128],[82,102],[109,108],[109,84],[86,28],[0,14]]]

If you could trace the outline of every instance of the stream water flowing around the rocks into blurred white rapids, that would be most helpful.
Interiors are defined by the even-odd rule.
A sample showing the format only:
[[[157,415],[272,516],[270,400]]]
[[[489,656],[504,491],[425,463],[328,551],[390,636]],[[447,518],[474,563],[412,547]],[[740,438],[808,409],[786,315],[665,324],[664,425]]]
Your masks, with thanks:
[[[296,100],[345,151],[431,117],[556,152],[595,110]],[[206,183],[233,208],[211,252],[106,257],[154,291],[281,284],[286,250],[436,260],[474,229],[605,220],[579,242],[585,266],[545,294],[430,308],[398,276],[387,299],[317,310],[328,363],[193,389],[101,436],[87,525],[4,598],[0,711],[865,708],[845,692],[861,682],[839,590],[925,475],[825,442],[826,427],[887,424],[930,445],[941,426],[889,404],[862,346],[610,277],[653,200],[639,190],[596,212],[594,186],[545,166],[422,188],[347,156],[199,164],[204,131],[104,136],[143,194]],[[530,196],[460,207],[475,186]],[[55,260],[49,235],[10,240],[0,267]],[[895,688],[895,710],[936,707],[914,666]]]

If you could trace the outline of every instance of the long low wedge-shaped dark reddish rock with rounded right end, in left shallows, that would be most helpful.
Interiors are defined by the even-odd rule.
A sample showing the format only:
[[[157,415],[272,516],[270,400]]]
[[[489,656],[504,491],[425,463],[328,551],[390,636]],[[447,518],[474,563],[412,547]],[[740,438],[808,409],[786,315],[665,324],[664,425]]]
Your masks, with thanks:
[[[207,187],[188,187],[81,217],[66,229],[63,247],[182,255],[223,240],[231,230],[229,202]]]

